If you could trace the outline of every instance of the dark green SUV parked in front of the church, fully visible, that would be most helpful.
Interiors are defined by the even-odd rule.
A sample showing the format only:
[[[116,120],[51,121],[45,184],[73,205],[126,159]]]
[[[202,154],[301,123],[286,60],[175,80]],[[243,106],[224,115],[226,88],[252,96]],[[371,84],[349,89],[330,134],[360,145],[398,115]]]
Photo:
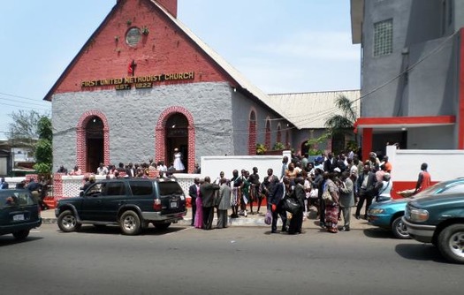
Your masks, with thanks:
[[[55,208],[61,231],[78,231],[82,224],[119,225],[136,235],[152,223],[167,229],[186,216],[186,196],[173,178],[123,178],[97,181],[80,197],[65,198]]]

